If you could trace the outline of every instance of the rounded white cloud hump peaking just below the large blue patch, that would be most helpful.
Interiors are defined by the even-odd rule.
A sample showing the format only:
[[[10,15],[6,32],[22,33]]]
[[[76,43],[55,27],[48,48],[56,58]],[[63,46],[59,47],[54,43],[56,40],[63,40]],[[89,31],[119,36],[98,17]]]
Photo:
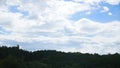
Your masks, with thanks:
[[[78,33],[95,34],[102,30],[101,27],[104,27],[104,24],[82,18],[75,23],[75,27]]]

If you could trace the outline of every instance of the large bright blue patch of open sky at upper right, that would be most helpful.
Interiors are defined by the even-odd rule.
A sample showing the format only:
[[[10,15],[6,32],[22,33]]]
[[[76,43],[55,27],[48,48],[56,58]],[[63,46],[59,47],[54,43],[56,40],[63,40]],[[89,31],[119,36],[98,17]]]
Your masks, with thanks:
[[[88,18],[94,21],[98,21],[98,22],[110,22],[110,21],[114,21],[114,20],[118,20],[120,21],[120,4],[118,5],[110,5],[108,3],[101,3],[100,4],[100,8],[97,10],[92,10],[91,14],[86,14],[84,11],[83,12],[77,12],[75,13],[71,19],[73,20],[79,20],[81,18]],[[102,7],[109,7],[109,11],[106,11],[104,13],[101,13],[100,11],[103,10]],[[109,15],[108,13],[112,13],[112,15]],[[97,16],[96,16],[97,15]]]

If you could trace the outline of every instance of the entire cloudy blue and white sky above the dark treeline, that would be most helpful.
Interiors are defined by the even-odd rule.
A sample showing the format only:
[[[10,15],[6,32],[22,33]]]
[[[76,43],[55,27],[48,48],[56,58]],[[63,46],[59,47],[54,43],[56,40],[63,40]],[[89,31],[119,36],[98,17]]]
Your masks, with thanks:
[[[120,0],[0,0],[0,46],[120,53]]]

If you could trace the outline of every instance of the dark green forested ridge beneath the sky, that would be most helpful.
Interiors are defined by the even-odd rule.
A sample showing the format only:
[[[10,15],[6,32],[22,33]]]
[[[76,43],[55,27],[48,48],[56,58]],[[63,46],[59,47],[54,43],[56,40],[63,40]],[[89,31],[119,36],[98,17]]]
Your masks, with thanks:
[[[120,54],[26,51],[19,46],[1,46],[0,68],[120,68]]]

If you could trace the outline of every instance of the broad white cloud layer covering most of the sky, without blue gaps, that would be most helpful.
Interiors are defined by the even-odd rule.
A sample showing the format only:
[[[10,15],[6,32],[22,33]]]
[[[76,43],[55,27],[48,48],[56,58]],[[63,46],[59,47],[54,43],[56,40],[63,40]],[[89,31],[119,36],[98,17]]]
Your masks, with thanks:
[[[101,2],[101,0],[92,0],[92,2],[85,0],[85,3],[75,1],[6,0],[4,2],[6,5],[1,1],[0,4],[6,8],[0,7],[2,8],[2,10],[0,9],[0,39],[21,43],[42,42],[44,45],[49,44],[49,47],[50,45],[55,46],[55,49],[66,52],[117,52],[119,46],[116,47],[116,45],[119,44],[116,43],[120,42],[120,22],[101,23],[87,18],[72,21],[69,19],[72,14],[95,10],[96,7],[90,4]],[[89,2],[90,4],[88,4]],[[9,11],[10,6],[18,6],[17,9],[20,12]],[[109,11],[107,7],[104,7],[103,10],[104,12]],[[21,13],[23,11],[27,11],[28,15],[23,16]]]

